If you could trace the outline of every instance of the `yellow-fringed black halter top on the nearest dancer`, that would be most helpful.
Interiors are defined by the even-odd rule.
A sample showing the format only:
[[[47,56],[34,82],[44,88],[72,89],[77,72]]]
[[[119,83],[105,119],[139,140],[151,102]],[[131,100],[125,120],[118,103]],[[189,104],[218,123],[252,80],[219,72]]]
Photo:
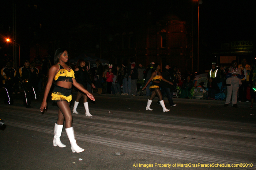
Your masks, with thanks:
[[[62,67],[60,64],[58,64],[58,65],[59,65],[59,71],[55,75],[54,80],[56,82],[61,81],[61,82],[72,82],[73,83],[72,79],[75,78],[74,71],[70,67],[68,67],[70,69],[70,71],[68,71],[67,69]]]

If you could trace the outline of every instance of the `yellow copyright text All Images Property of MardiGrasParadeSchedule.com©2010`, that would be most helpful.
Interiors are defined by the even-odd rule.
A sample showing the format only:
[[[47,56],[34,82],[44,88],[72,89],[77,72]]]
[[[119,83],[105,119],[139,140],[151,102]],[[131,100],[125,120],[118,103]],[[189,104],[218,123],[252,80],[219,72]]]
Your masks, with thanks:
[[[153,164],[140,164],[140,163],[133,163],[132,167],[253,167],[252,163],[240,163],[240,164],[229,164],[229,163],[208,163],[208,164],[202,164],[202,163],[168,163],[168,164],[158,164],[158,163],[153,163]]]

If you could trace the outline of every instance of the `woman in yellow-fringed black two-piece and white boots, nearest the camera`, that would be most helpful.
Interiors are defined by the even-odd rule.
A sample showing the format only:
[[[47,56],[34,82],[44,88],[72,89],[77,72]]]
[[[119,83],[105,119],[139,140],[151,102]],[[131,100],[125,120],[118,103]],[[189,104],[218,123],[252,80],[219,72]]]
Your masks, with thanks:
[[[41,112],[46,109],[47,103],[46,99],[49,94],[50,88],[52,86],[53,79],[56,81],[56,86],[52,92],[52,100],[57,103],[59,107],[57,123],[54,127],[54,138],[53,146],[66,147],[60,141],[60,136],[63,129],[64,119],[65,119],[65,130],[68,135],[68,139],[71,143],[72,152],[83,152],[84,149],[80,148],[76,144],[76,139],[74,135],[74,129],[72,127],[72,114],[69,108],[71,97],[72,84],[84,92],[91,100],[95,100],[93,95],[90,94],[87,90],[80,86],[76,82],[74,71],[66,65],[68,62],[68,52],[64,48],[59,48],[56,50],[54,55],[54,63],[49,69],[48,82],[45,88],[44,99],[41,104]]]

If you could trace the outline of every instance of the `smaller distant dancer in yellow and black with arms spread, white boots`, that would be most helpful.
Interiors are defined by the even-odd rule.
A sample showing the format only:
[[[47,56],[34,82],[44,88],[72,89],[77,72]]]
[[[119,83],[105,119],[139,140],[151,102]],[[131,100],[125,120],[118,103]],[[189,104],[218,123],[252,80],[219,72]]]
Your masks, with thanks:
[[[152,100],[154,99],[155,95],[157,95],[158,98],[159,98],[159,102],[160,102],[161,106],[163,107],[163,112],[167,112],[167,111],[170,111],[170,110],[168,110],[165,107],[165,103],[163,102],[163,97],[162,97],[162,94],[161,94],[161,91],[160,91],[160,81],[163,80],[164,82],[167,82],[169,84],[172,84],[172,83],[165,80],[164,78],[162,78],[162,75],[160,73],[160,69],[161,69],[161,66],[159,64],[154,64],[154,67],[152,69],[151,77],[148,80],[146,86],[142,88],[142,90],[144,90],[152,80],[152,84],[149,87],[152,91],[152,94],[151,94],[150,98],[148,99],[146,110],[152,110],[150,108],[150,104],[152,103]]]

